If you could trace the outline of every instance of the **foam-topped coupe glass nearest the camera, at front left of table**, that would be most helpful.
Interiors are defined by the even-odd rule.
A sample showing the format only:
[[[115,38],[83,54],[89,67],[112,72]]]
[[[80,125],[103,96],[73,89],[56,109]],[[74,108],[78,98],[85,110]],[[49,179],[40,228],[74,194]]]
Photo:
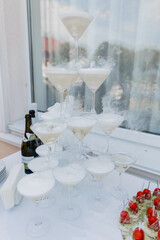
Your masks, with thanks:
[[[32,173],[18,182],[17,190],[22,196],[39,203],[54,185],[55,180],[52,175]],[[50,225],[50,221],[45,217],[35,217],[27,225],[27,234],[31,237],[41,237],[49,231]]]

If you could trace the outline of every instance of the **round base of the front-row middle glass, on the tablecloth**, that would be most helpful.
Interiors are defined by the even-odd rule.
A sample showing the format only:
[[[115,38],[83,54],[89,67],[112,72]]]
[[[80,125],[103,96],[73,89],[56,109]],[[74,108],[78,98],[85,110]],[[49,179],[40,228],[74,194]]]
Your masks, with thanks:
[[[63,207],[60,210],[60,215],[64,220],[72,221],[78,218],[81,214],[81,210],[77,205],[72,205],[72,208],[68,206]]]

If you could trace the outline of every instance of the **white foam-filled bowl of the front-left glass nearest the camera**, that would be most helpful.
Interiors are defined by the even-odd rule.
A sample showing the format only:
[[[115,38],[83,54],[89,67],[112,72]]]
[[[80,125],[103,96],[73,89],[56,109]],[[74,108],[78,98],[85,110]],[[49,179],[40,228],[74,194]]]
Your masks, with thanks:
[[[55,180],[50,172],[32,173],[23,177],[17,185],[18,192],[32,200],[40,200],[55,185]]]

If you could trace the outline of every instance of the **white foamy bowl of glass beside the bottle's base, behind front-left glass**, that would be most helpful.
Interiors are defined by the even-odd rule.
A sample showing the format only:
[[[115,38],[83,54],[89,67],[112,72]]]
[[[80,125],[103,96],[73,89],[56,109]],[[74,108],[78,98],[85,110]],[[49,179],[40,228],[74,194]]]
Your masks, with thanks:
[[[58,166],[58,160],[50,160],[48,163],[48,158],[47,157],[37,157],[34,158],[32,161],[29,162],[28,168],[32,172],[40,172],[40,171],[45,171],[49,168],[55,168]]]

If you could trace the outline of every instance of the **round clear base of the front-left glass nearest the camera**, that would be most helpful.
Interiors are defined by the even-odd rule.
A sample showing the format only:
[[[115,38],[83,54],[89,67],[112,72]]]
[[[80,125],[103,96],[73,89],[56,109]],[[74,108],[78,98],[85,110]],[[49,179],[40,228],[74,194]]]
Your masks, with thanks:
[[[27,234],[31,237],[44,236],[50,228],[50,222],[46,218],[36,217],[27,225]]]

